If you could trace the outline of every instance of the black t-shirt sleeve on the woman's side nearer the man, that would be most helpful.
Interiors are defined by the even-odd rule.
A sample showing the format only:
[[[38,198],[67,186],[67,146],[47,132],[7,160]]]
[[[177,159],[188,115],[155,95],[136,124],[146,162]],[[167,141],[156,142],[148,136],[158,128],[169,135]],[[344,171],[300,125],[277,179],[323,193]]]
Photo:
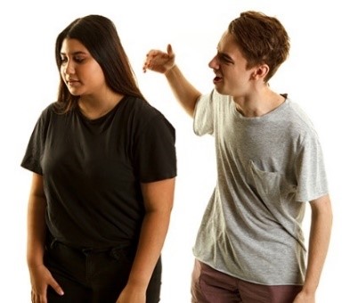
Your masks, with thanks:
[[[142,130],[135,165],[142,183],[176,176],[175,128],[162,114],[154,116]]]

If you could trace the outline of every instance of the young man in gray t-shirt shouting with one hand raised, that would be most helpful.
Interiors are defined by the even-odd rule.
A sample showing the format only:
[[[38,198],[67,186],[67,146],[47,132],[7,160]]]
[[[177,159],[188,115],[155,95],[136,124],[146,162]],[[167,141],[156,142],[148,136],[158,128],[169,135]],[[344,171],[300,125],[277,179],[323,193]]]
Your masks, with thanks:
[[[183,77],[171,45],[147,55],[143,70],[164,73],[195,133],[216,139],[217,184],[193,249],[192,302],[315,301],[332,212],[313,124],[268,84],[288,55],[281,22],[260,12],[242,12],[224,32],[209,62],[210,94]]]

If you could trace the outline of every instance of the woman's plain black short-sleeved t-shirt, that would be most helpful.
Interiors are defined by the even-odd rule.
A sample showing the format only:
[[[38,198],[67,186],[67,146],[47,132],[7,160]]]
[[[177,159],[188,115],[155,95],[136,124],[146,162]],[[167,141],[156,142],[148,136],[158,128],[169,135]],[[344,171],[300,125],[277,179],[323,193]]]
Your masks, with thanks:
[[[44,178],[46,224],[77,248],[137,242],[141,183],[176,176],[175,129],[148,102],[126,96],[99,119],[50,104],[21,162]]]

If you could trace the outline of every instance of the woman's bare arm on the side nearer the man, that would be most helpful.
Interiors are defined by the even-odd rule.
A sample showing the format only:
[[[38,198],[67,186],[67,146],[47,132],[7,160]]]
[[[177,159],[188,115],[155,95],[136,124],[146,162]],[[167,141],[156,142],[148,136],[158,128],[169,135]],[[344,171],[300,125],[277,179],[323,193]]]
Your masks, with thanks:
[[[145,302],[146,290],[166,239],[173,208],[175,178],[142,184],[146,214],[126,288],[118,303]]]

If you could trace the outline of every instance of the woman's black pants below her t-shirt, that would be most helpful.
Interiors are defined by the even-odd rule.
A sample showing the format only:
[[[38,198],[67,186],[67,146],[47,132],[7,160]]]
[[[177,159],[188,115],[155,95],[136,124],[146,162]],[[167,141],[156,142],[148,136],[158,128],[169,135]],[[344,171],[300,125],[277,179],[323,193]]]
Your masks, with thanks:
[[[64,295],[49,287],[48,303],[116,303],[126,286],[133,260],[134,250],[127,247],[78,250],[53,240],[45,251],[45,266]],[[161,270],[159,258],[147,289],[147,303],[160,300]]]

